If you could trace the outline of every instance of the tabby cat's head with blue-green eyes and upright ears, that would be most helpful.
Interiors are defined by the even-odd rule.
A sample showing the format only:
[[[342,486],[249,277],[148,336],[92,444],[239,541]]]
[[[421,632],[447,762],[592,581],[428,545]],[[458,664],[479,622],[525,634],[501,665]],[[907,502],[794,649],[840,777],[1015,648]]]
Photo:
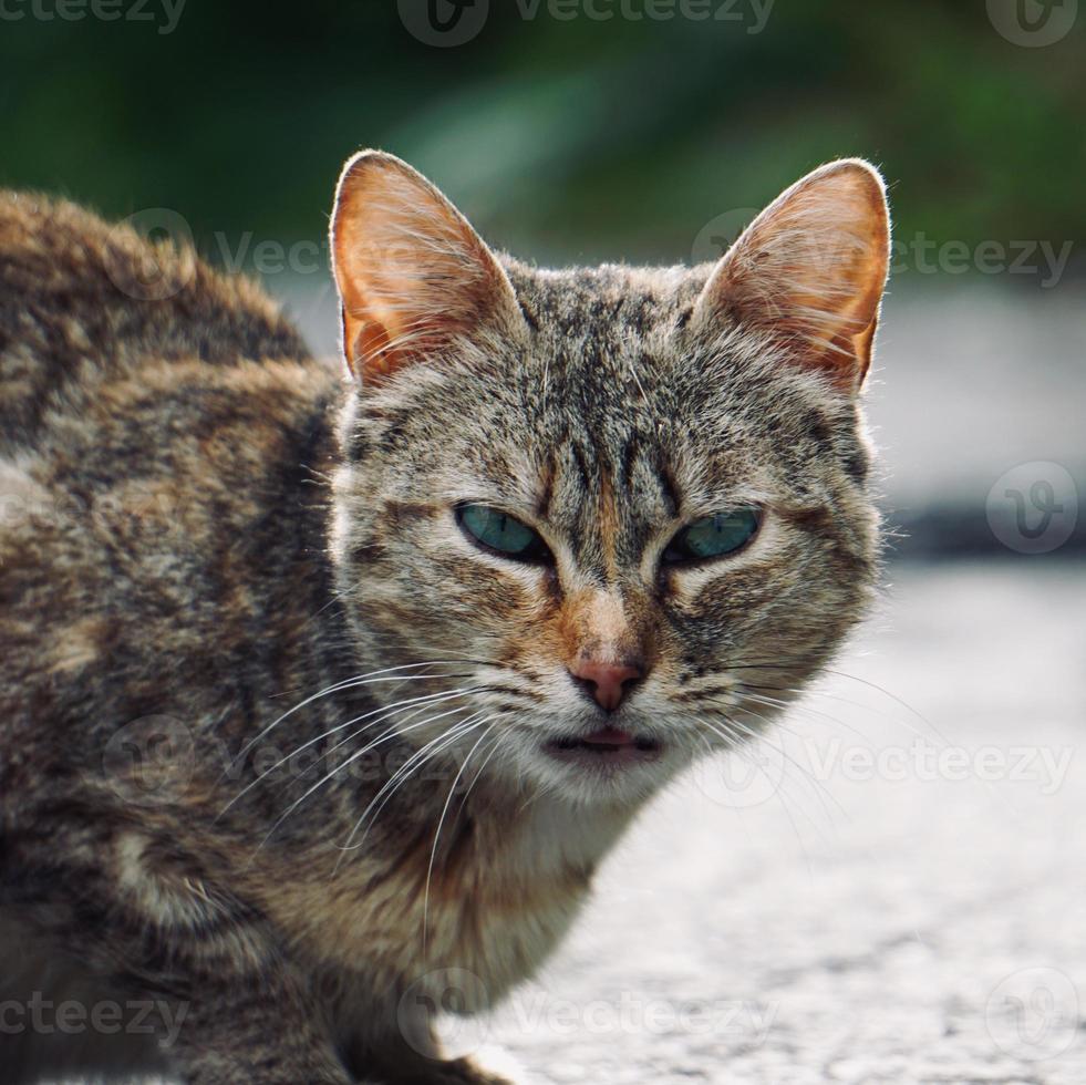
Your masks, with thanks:
[[[715,266],[544,271],[365,152],[332,248],[356,382],[333,558],[403,734],[625,803],[793,700],[876,575],[873,168],[808,175]]]

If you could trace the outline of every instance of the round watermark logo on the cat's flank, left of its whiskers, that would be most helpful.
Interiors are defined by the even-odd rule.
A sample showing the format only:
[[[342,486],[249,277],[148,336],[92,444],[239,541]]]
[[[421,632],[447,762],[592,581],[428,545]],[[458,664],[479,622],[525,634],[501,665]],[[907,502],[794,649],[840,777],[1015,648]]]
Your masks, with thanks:
[[[196,769],[193,732],[168,715],[134,720],[105,745],[106,781],[126,803],[139,806],[174,802]]]

